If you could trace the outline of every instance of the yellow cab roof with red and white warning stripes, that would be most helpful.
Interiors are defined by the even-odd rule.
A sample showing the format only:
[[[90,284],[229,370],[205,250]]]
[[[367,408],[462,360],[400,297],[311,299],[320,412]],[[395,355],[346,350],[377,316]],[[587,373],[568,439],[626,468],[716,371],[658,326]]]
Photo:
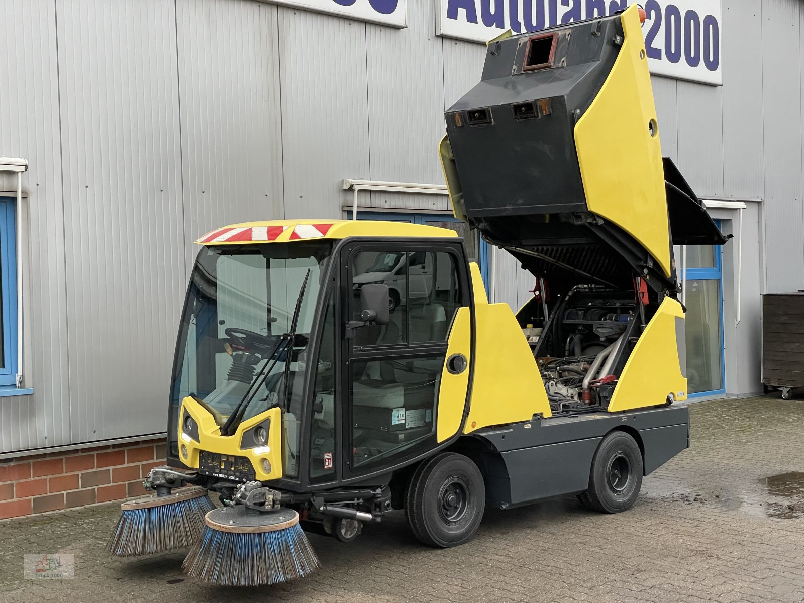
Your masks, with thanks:
[[[322,236],[310,236],[310,229],[306,229],[301,238],[293,237],[297,226],[326,226],[326,233]],[[282,229],[281,234],[272,240],[220,240],[212,243],[205,241],[217,232],[225,233],[230,228],[274,228]],[[240,224],[229,224],[214,231],[207,232],[195,242],[198,244],[209,245],[242,245],[248,243],[284,243],[289,240],[314,240],[314,239],[346,239],[347,236],[371,236],[379,239],[386,237],[453,237],[457,233],[449,228],[438,228],[437,226],[426,226],[425,224],[410,224],[408,222],[391,222],[373,219],[277,219],[262,222],[242,222]]]

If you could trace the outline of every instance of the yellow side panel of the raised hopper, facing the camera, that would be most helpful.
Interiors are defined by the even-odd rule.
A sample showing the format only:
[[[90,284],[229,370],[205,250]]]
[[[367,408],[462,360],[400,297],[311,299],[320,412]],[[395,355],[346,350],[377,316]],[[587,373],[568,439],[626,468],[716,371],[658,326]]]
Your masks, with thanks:
[[[621,19],[625,41],[617,60],[575,126],[580,175],[589,211],[638,240],[671,277],[662,147],[637,6]]]

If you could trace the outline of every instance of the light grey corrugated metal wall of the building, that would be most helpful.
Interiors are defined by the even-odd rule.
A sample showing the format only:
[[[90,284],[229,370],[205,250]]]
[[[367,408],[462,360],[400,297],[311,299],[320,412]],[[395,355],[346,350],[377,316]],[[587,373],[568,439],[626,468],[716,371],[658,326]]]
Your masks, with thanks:
[[[161,431],[191,241],[242,219],[339,217],[342,178],[440,183],[441,112],[484,53],[435,36],[430,0],[408,0],[404,30],[252,0],[0,10],[0,154],[31,163],[35,391],[0,398],[2,452]],[[765,199],[770,291],[804,287],[802,25],[800,0],[724,0],[724,86],[654,78],[662,145],[699,194]],[[496,268],[498,299],[519,306],[532,277],[505,252]]]

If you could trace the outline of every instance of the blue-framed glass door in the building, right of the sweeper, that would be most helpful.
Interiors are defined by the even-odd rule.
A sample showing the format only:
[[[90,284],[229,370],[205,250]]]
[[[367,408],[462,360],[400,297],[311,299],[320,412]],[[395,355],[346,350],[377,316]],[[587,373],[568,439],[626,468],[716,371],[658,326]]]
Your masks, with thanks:
[[[687,247],[687,264],[687,387],[694,400],[726,392],[722,248]]]

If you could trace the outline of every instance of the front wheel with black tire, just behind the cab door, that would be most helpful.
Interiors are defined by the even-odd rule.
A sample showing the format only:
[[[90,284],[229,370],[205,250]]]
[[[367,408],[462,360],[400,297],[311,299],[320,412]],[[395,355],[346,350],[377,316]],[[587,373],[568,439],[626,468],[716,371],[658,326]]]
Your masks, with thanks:
[[[485,509],[483,476],[462,454],[440,453],[422,462],[405,495],[408,524],[430,547],[457,547],[470,540]]]

